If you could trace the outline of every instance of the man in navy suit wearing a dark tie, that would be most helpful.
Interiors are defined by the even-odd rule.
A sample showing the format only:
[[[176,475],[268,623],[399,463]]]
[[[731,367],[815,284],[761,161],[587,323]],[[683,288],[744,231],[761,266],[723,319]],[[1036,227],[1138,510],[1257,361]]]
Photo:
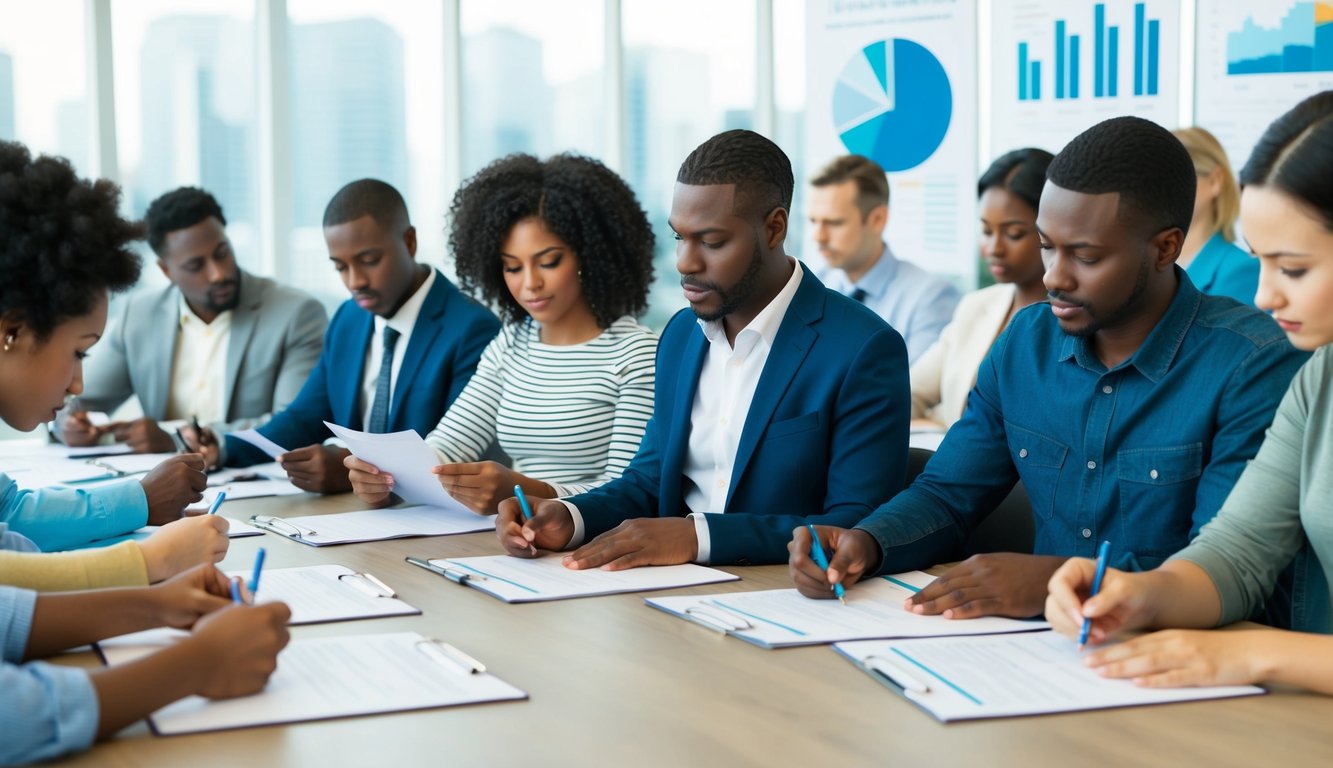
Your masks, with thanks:
[[[399,192],[373,179],[352,181],[324,211],[329,259],[352,292],[324,337],[324,352],[296,400],[259,432],[287,448],[279,461],[299,488],[351,491],[343,459],[324,445],[324,421],[369,432],[425,436],[472,379],[500,331],[485,307],[437,269],[417,264],[416,229]],[[227,435],[205,433],[211,464],[247,467],[268,457]],[[211,445],[212,444],[212,445]]]

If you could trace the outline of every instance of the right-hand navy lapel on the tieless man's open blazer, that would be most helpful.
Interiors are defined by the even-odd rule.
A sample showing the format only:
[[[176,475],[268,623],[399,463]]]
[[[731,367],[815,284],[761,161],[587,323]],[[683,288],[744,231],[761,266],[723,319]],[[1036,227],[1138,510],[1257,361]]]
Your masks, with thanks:
[[[786,389],[796,377],[801,363],[809,353],[818,333],[810,324],[824,316],[824,287],[809,271],[801,275],[801,284],[792,297],[792,304],[782,317],[782,324],[777,327],[777,336],[773,337],[773,348],[768,352],[768,361],[764,363],[764,372],[758,376],[758,385],[754,387],[754,397],[750,400],[749,413],[745,415],[745,427],[741,429],[741,441],[736,447],[736,461],[732,464],[732,484],[726,489],[726,507],[730,508],[732,495],[740,479],[745,475],[745,468],[760,437],[773,420],[777,404],[782,401]]]

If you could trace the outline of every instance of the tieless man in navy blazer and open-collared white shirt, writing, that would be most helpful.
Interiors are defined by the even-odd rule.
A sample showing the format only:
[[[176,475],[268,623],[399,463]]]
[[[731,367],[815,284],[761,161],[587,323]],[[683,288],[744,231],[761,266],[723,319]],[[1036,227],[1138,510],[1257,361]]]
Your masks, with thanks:
[[[781,563],[793,527],[860,520],[902,488],[906,348],[782,251],[792,185],[782,151],[749,131],[685,160],[670,227],[690,312],[657,345],[639,453],[531,520],[503,501],[511,555],[577,547],[564,559],[576,569]]]

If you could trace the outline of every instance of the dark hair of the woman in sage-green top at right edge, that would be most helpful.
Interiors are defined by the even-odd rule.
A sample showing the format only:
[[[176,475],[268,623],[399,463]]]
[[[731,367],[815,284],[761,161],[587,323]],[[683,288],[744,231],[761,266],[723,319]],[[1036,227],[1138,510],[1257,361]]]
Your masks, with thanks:
[[[1333,231],[1333,91],[1292,107],[1264,131],[1241,168],[1241,187],[1273,185]]]

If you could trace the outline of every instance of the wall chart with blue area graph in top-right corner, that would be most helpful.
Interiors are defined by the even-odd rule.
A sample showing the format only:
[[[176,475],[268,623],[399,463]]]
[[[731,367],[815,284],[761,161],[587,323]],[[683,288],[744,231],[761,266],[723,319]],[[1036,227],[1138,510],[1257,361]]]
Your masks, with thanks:
[[[1240,171],[1264,128],[1333,88],[1333,3],[1200,0],[1196,121]]]

